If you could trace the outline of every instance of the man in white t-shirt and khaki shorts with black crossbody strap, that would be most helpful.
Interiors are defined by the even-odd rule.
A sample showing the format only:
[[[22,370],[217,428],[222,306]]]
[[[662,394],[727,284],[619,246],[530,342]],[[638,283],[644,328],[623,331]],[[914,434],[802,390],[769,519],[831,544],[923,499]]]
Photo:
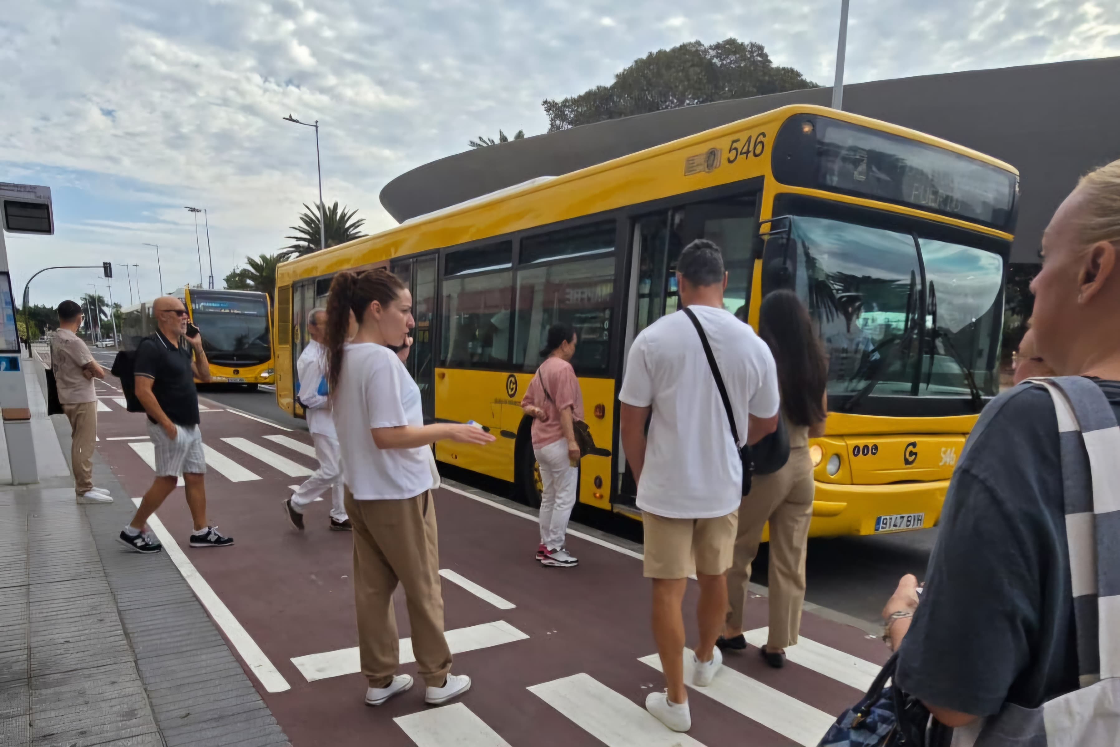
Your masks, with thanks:
[[[726,572],[743,497],[739,448],[777,428],[778,389],[769,347],[724,309],[727,273],[719,248],[707,240],[685,246],[676,281],[681,306],[697,316],[711,345],[741,439],[731,438],[703,346],[684,311],[642,330],[618,399],[623,449],[643,516],[644,571],[653,579],[653,634],[668,685],[666,692],[651,693],[645,706],[670,729],[687,731],[692,719],[681,603],[696,573],[700,641],[688,657],[692,682],[707,687],[722,663],[716,638],[727,613]]]

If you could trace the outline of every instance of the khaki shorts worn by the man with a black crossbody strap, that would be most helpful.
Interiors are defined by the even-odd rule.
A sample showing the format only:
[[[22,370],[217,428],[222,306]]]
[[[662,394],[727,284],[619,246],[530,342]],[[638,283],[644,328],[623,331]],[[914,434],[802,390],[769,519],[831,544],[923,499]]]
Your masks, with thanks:
[[[666,519],[642,512],[646,578],[719,576],[731,567],[739,512],[716,519]]]

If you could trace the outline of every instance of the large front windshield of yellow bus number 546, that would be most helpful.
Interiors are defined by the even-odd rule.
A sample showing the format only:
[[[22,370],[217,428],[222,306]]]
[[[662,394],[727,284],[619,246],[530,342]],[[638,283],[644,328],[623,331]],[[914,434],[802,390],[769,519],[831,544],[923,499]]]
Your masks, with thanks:
[[[794,217],[790,233],[830,395],[997,393],[999,254],[824,217]]]

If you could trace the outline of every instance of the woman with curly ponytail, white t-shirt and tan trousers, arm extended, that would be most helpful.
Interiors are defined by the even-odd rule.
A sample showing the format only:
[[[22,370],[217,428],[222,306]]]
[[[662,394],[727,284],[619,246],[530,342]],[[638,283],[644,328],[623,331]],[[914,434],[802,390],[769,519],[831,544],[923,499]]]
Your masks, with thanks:
[[[351,319],[357,330],[349,337]],[[380,706],[412,687],[400,665],[393,591],[404,587],[412,651],[428,685],[424,700],[445,703],[470,688],[451,674],[444,637],[431,443],[450,439],[488,443],[494,437],[460,423],[423,424],[420,389],[391,347],[404,344],[412,296],[384,268],[340,272],[327,305],[332,413],[354,525],[354,598],[357,607],[365,702]]]

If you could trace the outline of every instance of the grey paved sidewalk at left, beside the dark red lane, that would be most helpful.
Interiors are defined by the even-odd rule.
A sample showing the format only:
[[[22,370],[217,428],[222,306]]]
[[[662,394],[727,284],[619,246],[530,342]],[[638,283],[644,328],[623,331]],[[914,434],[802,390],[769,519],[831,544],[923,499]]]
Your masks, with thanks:
[[[69,426],[24,363],[40,465],[66,464]],[[57,440],[39,437],[48,424]],[[289,744],[167,554],[116,542],[133,504],[100,456],[112,505],[77,505],[58,471],[0,485],[0,744]]]

